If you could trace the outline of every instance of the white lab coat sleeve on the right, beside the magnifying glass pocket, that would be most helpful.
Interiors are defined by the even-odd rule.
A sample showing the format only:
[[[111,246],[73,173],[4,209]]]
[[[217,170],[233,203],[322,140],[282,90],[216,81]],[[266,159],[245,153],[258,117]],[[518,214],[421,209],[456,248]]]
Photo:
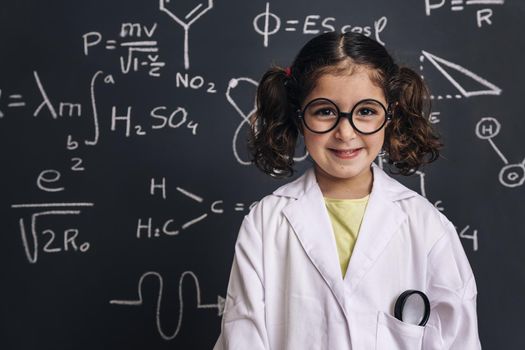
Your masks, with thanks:
[[[431,312],[423,349],[481,349],[474,274],[456,229],[440,215],[445,234],[432,247],[428,257]]]

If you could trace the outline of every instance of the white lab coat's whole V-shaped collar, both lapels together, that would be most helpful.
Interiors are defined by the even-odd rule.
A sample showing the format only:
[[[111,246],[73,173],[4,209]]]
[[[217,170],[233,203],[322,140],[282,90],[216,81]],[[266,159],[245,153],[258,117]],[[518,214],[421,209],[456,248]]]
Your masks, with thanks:
[[[372,191],[344,280],[332,224],[314,170],[307,170],[297,180],[274,191],[277,196],[297,199],[283,209],[284,215],[346,315],[349,311],[345,299],[355,292],[406,219],[406,214],[395,202],[416,195],[375,163],[372,163],[372,170]]]

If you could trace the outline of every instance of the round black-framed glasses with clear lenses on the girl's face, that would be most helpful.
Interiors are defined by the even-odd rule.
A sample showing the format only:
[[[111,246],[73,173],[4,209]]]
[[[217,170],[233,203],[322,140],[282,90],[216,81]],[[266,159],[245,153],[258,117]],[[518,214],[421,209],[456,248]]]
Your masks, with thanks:
[[[320,97],[297,112],[306,128],[317,134],[333,130],[341,117],[348,118],[352,128],[364,135],[378,132],[392,119],[390,108],[387,110],[381,102],[371,98],[357,102],[350,112],[341,112],[333,101]]]

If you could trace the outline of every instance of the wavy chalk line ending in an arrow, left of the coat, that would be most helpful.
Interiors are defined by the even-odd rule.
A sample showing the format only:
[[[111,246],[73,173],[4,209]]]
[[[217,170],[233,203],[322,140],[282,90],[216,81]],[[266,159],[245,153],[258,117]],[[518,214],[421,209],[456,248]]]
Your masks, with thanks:
[[[163,297],[163,290],[164,290],[164,280],[160,273],[155,271],[148,271],[139,279],[138,283],[138,300],[110,300],[109,303],[112,305],[121,305],[121,306],[141,306],[144,302],[144,299],[142,297],[142,283],[147,277],[152,277],[156,281],[158,281],[158,294],[157,294],[157,301],[156,301],[156,307],[155,307],[155,321],[157,326],[157,331],[159,335],[164,340],[172,340],[180,332],[181,326],[182,326],[182,320],[183,320],[183,314],[184,314],[184,300],[182,296],[182,287],[184,283],[184,279],[186,277],[191,278],[193,280],[193,283],[195,285],[196,291],[197,291],[197,305],[195,307],[197,309],[217,309],[217,316],[222,316],[222,313],[224,311],[224,303],[225,299],[221,297],[220,295],[217,295],[217,303],[216,304],[203,304],[201,302],[201,291],[200,291],[200,285],[199,285],[199,279],[192,271],[184,271],[182,275],[179,278],[179,315],[177,318],[177,327],[173,331],[173,333],[168,334],[165,332],[164,328],[162,327],[162,322],[160,320],[160,314],[161,314],[161,306],[162,306],[162,297]]]

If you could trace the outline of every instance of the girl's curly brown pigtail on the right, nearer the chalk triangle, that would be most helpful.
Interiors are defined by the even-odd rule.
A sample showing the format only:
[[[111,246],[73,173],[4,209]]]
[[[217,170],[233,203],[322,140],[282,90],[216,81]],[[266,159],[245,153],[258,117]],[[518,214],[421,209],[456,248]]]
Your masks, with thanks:
[[[443,144],[428,120],[430,94],[421,77],[401,67],[388,84],[393,118],[385,130],[384,149],[398,173],[411,175],[437,160]]]

